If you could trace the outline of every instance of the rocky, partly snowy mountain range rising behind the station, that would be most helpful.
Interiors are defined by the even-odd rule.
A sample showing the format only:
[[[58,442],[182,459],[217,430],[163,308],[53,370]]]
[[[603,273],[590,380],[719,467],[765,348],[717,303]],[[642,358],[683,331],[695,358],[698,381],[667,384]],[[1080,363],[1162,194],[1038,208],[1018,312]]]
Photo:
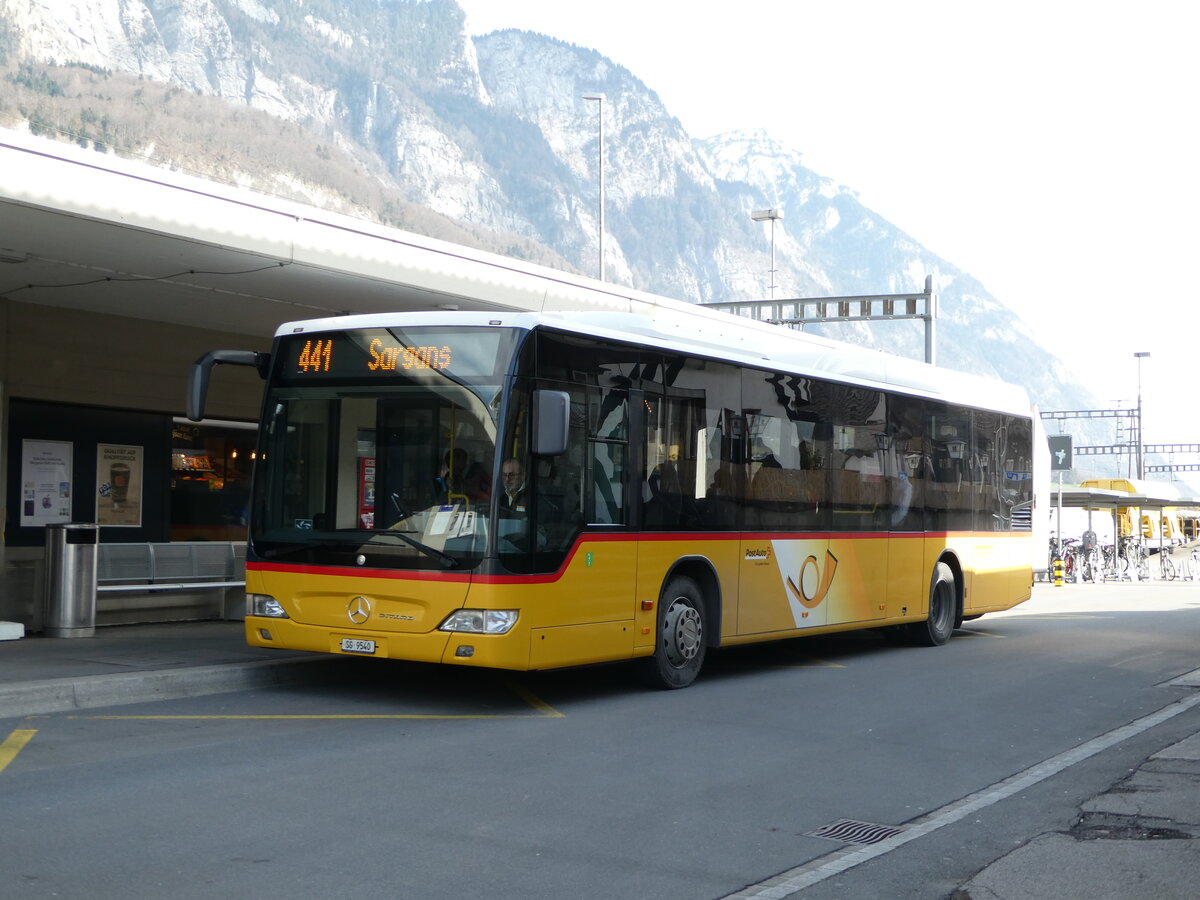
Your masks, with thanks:
[[[970,275],[766,133],[689,136],[637,77],[454,0],[0,0],[0,125],[696,302],[940,296],[938,362],[1096,403]],[[584,100],[604,94],[605,101]],[[824,326],[920,358],[913,322]],[[1108,442],[1109,434],[1097,440]]]

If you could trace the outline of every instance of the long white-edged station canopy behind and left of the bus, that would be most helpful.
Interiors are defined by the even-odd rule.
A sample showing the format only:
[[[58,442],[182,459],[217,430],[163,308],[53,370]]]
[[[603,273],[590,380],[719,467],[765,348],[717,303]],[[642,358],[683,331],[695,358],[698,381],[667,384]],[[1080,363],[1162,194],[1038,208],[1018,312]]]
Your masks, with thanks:
[[[550,286],[581,308],[629,308],[637,293],[0,128],[11,302],[269,337],[347,313],[535,311]]]

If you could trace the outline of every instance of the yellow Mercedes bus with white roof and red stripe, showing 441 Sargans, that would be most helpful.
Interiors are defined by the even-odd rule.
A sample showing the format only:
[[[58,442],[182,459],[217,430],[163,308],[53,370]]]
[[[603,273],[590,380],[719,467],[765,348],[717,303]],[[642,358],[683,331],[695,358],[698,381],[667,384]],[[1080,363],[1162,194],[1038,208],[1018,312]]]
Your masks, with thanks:
[[[683,688],[716,647],[942,644],[1044,554],[1022,390],[726,313],[288,323],[199,360],[192,419],[217,362],[266,377],[259,647]]]

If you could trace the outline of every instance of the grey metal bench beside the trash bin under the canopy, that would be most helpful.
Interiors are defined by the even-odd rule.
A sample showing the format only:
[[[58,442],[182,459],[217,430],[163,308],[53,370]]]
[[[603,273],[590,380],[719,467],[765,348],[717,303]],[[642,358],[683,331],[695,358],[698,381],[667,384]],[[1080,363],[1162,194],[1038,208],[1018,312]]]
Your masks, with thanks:
[[[245,587],[240,545],[221,541],[100,544],[96,590],[200,590]]]

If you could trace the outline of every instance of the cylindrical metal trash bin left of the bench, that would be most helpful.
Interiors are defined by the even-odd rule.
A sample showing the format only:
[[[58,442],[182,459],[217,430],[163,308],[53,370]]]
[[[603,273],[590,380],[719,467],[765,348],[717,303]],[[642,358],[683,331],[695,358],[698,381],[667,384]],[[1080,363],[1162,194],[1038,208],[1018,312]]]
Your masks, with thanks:
[[[46,636],[96,634],[96,546],[100,526],[86,522],[46,527]]]

